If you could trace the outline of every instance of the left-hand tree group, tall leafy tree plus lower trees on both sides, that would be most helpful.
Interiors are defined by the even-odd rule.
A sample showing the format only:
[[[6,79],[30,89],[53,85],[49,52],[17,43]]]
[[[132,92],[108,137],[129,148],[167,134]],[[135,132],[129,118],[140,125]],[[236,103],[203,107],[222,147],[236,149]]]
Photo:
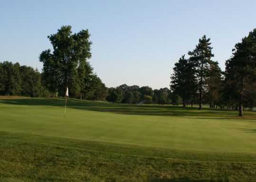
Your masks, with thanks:
[[[72,34],[71,26],[62,26],[48,39],[53,50],[39,55],[42,73],[19,63],[0,63],[0,95],[30,97],[69,96],[87,100],[105,100],[107,87],[94,73],[91,58],[90,34],[81,30]]]

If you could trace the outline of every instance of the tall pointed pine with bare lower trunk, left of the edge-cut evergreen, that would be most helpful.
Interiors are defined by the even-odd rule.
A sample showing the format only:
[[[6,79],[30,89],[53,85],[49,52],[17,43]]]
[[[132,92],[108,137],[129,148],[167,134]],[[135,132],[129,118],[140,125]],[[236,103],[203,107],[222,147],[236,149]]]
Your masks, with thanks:
[[[196,48],[189,52],[190,60],[194,62],[197,69],[197,79],[199,80],[199,110],[202,109],[203,92],[206,86],[206,75],[209,71],[211,57],[214,56],[211,52],[212,47],[210,45],[210,39],[206,38],[206,35],[203,35],[199,39]]]

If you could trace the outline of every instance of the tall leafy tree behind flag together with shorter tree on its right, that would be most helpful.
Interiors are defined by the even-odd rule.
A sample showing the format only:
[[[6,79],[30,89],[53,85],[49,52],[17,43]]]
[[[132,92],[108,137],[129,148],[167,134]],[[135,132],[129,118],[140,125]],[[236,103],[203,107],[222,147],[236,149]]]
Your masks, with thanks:
[[[51,92],[89,100],[105,100],[107,88],[93,72],[88,59],[91,45],[88,30],[72,34],[71,26],[62,26],[56,34],[48,36],[53,51],[43,51],[39,58],[43,62],[42,82]]]

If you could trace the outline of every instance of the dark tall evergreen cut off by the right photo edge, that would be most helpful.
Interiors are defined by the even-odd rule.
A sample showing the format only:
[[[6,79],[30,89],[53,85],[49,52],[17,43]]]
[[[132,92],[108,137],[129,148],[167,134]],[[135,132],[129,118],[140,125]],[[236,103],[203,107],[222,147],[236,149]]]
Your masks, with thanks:
[[[243,105],[254,97],[250,86],[256,83],[256,29],[235,45],[233,56],[226,61],[225,76],[225,82],[232,87],[230,92],[238,105],[239,116],[243,116]]]

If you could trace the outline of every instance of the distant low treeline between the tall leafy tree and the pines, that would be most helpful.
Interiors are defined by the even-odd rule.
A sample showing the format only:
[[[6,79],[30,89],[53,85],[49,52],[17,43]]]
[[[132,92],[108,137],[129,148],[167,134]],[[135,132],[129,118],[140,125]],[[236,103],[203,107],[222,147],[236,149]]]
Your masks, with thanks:
[[[144,86],[127,86],[108,89],[106,100],[112,103],[123,104],[178,104],[179,97],[172,98],[171,90],[168,88],[152,89]]]

